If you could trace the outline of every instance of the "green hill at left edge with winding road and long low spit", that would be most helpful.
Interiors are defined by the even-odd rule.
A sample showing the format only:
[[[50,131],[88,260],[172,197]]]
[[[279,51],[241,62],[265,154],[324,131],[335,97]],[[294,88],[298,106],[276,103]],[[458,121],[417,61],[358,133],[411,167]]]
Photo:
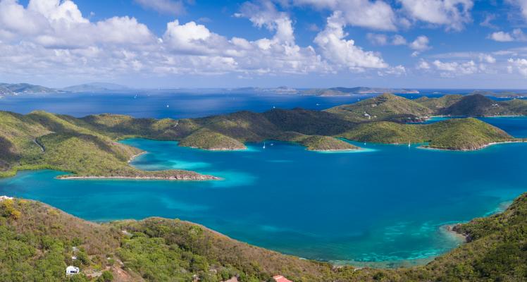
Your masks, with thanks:
[[[26,116],[0,112],[2,176],[50,168],[75,176],[205,179],[192,171],[140,171],[128,160],[140,149],[122,145],[82,121],[42,111]],[[74,122],[72,122],[74,121]],[[155,121],[160,122],[160,121]]]

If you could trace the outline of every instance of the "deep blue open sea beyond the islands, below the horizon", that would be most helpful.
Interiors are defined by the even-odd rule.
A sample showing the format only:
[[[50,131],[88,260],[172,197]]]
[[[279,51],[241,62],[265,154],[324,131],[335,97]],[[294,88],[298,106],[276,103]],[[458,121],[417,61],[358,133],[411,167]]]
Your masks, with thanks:
[[[421,94],[401,94],[416,99],[421,96],[440,97],[443,94],[468,94],[472,90],[420,90]],[[498,91],[498,90],[497,90]],[[136,97],[137,95],[137,97]],[[196,118],[234,111],[268,111],[281,109],[328,109],[350,104],[373,95],[347,97],[309,97],[290,94],[235,94],[171,92],[168,90],[137,90],[128,93],[39,94],[4,97],[1,111],[27,114],[44,110],[56,114],[87,116],[89,114],[127,114],[137,118]],[[168,105],[168,107],[167,107]]]

